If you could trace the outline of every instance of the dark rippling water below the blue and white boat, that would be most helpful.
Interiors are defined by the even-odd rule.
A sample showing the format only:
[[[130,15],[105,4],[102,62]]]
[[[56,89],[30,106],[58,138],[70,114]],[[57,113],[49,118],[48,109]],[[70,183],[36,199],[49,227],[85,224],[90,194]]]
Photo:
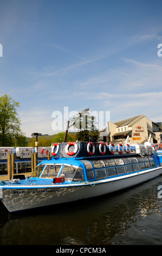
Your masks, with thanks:
[[[161,184],[159,176],[102,198],[14,215],[0,204],[0,245],[161,245]]]

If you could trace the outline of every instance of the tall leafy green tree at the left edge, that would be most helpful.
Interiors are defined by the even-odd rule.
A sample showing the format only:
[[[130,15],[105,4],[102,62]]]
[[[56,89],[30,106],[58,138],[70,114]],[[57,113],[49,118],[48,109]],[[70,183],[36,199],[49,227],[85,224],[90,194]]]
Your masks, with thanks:
[[[5,94],[0,97],[0,145],[2,147],[11,147],[18,143],[18,138],[23,136],[18,118],[17,107],[19,102]],[[22,137],[21,137],[22,138]]]

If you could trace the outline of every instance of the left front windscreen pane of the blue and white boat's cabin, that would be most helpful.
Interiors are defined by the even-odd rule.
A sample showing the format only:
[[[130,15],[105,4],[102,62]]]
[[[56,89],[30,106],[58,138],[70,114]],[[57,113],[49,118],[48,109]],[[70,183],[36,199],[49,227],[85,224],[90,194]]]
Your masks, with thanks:
[[[43,170],[41,178],[49,178],[49,179],[56,178],[61,167],[62,167],[62,165],[60,165],[60,164],[59,165],[57,165],[57,164],[47,164],[47,166]]]

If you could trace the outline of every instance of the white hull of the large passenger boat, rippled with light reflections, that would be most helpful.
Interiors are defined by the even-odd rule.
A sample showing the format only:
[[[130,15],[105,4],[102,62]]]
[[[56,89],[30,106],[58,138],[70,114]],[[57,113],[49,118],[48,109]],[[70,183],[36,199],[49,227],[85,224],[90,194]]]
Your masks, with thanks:
[[[162,174],[162,167],[147,169],[114,178],[73,185],[2,186],[2,203],[9,212],[39,208],[42,206],[74,202],[80,199],[102,196],[139,185]]]

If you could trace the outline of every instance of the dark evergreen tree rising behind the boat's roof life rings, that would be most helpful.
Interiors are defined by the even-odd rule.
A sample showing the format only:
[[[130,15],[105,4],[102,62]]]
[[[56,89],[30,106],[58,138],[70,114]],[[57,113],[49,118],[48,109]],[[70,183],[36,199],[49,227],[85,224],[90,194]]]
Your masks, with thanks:
[[[96,128],[95,117],[91,115],[89,108],[81,111],[70,121],[70,127],[79,130],[76,133],[78,141],[92,141],[97,142],[99,131]]]

